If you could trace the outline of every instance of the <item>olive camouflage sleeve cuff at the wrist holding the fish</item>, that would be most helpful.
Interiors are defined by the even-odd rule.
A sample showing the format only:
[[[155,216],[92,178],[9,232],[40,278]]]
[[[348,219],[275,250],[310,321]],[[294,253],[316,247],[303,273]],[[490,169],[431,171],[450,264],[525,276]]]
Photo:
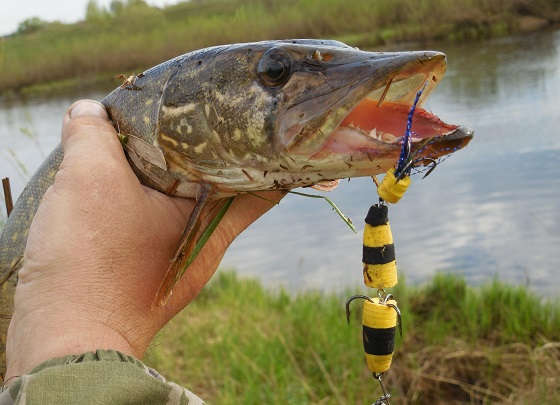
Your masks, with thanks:
[[[166,381],[141,361],[97,350],[44,362],[0,393],[0,405],[202,405],[189,390]]]

